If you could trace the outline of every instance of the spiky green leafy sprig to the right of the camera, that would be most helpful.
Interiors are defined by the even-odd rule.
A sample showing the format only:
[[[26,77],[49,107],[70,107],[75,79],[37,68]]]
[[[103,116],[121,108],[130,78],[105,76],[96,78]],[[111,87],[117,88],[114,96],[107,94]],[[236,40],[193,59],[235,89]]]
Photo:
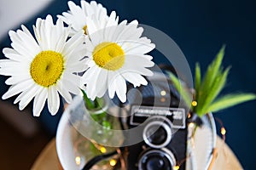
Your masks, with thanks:
[[[228,107],[256,99],[255,94],[226,94],[218,97],[227,82],[230,72],[230,67],[224,69],[222,66],[224,49],[225,47],[223,46],[216,58],[208,65],[203,78],[201,78],[200,65],[198,63],[195,64],[195,93],[193,95],[191,95],[189,90],[186,90],[188,88],[183,87],[177,77],[170,73],[170,78],[178,93],[182,96],[183,101],[198,116],[203,116],[209,112],[221,111]],[[193,96],[193,101],[195,101],[196,105],[192,105],[190,96]]]

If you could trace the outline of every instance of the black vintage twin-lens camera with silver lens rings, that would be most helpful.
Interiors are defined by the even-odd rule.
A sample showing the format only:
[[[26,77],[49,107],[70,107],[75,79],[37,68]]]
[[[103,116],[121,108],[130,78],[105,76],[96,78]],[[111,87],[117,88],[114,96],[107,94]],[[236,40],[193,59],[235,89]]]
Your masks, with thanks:
[[[141,103],[131,104],[129,128],[140,126],[137,135],[143,141],[128,147],[129,170],[168,170],[179,165],[185,169],[187,148],[187,112],[172,86],[167,81],[149,81],[140,89]],[[154,88],[154,89],[153,89]],[[154,95],[152,95],[152,91]],[[157,95],[159,94],[159,95]],[[165,95],[164,95],[165,94]]]

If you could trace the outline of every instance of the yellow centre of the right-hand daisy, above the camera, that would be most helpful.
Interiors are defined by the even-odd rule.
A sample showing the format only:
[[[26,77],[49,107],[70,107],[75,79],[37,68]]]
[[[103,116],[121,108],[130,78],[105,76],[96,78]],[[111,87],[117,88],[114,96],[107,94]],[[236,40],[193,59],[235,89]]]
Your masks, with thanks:
[[[93,50],[96,65],[108,71],[119,70],[125,64],[125,52],[115,42],[102,42]]]

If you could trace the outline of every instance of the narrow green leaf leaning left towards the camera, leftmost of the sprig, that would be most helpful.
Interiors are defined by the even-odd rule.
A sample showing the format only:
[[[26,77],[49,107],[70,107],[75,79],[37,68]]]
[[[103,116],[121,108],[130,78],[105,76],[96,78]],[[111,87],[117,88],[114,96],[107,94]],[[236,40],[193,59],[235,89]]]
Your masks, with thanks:
[[[169,72],[169,76],[173,82],[174,87],[177,89],[177,92],[181,95],[185,104],[190,108],[192,95],[186,90],[187,88],[183,87],[180,80],[176,76],[174,76],[172,72]]]

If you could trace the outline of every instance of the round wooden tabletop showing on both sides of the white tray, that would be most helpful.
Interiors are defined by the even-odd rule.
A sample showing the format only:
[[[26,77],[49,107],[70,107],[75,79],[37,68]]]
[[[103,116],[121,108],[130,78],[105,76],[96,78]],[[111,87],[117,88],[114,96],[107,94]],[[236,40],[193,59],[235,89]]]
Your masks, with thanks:
[[[61,170],[61,164],[56,153],[55,139],[42,150],[32,166],[33,170]],[[212,161],[212,170],[240,170],[240,162],[230,150],[230,147],[220,138],[217,138],[215,161]]]

